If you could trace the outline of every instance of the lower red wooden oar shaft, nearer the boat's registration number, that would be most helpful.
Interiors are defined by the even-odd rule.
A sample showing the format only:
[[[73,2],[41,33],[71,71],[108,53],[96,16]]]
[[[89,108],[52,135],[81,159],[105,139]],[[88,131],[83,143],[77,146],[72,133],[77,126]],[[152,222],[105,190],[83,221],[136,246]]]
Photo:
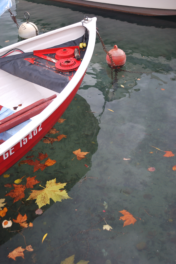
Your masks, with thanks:
[[[37,107],[34,107],[33,109],[23,113],[22,115],[19,115],[19,116],[13,118],[12,120],[10,120],[4,124],[0,124],[0,133],[4,132],[10,128],[13,128],[14,126],[21,124],[22,122],[30,119],[33,116],[40,114],[43,111],[43,109],[45,109],[51,102],[52,102],[51,100],[44,102],[44,103],[38,105]]]

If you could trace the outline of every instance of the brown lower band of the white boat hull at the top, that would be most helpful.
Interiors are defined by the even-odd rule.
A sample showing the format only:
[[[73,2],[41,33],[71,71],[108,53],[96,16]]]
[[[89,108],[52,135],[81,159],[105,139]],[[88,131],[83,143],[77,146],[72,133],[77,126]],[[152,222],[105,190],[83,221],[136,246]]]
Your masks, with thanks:
[[[52,0],[53,1],[53,0]],[[54,0],[63,3],[75,4],[85,7],[93,7],[98,9],[105,9],[123,13],[130,13],[143,16],[172,16],[176,15],[176,9],[161,9],[161,8],[146,8],[135,6],[122,6],[118,4],[99,3],[85,0]]]

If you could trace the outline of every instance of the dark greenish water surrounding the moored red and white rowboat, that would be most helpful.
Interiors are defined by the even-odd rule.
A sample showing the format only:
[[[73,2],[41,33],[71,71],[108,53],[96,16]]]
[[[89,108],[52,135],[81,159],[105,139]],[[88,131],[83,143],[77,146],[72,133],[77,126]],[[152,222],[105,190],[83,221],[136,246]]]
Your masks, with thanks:
[[[16,232],[21,229],[18,223],[7,229],[0,225],[1,263],[14,263],[7,258],[9,252],[26,244],[34,250],[24,251],[25,259],[17,257],[17,263],[60,264],[73,254],[74,263],[84,259],[91,264],[175,263],[176,172],[172,167],[176,155],[163,157],[165,152],[151,147],[176,153],[175,17],[134,16],[52,1],[20,0],[11,10],[19,24],[28,11],[41,34],[78,22],[84,15],[96,16],[107,49],[117,44],[125,51],[127,62],[112,86],[97,38],[87,75],[62,116],[67,120],[54,126],[67,138],[53,146],[41,140],[27,154],[36,158],[38,152],[46,152],[57,162],[36,172],[33,166],[17,163],[5,173],[10,174],[8,178],[1,177],[0,199],[6,198],[8,211],[0,221],[16,219],[19,212],[26,213],[27,223],[33,223],[33,228]],[[1,16],[0,25],[2,47],[19,41],[8,11]],[[81,161],[73,159],[73,151],[79,148],[89,152]],[[148,171],[149,167],[155,171]],[[72,200],[54,203],[50,199],[50,204],[41,208],[43,214],[37,216],[36,200],[26,201],[30,189],[15,203],[10,196],[4,197],[11,190],[4,184],[24,175],[19,184],[37,175],[41,183],[34,185],[34,190],[42,190],[39,184],[45,186],[55,178],[67,183]],[[86,175],[92,178],[80,183]],[[141,220],[123,227],[119,220],[123,209]],[[111,231],[103,230],[103,218]],[[146,243],[142,250],[138,250],[140,242]]]

